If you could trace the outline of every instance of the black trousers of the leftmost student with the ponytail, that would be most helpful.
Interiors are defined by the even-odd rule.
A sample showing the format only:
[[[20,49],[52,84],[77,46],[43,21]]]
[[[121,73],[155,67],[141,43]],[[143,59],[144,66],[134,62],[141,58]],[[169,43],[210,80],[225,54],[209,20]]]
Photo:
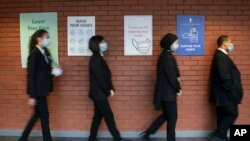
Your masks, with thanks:
[[[47,106],[46,97],[36,98],[36,105],[34,107],[34,113],[25,127],[21,139],[27,140],[29,134],[34,127],[36,121],[40,118],[42,134],[44,141],[52,141],[50,129],[49,129],[49,112]]]

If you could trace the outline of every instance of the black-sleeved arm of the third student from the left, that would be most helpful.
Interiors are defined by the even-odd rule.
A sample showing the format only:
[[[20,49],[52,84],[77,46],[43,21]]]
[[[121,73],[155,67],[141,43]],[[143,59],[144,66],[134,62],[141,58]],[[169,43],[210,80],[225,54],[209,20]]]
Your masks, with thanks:
[[[178,93],[181,89],[180,83],[178,81],[178,72],[176,72],[177,64],[174,62],[173,56],[166,56],[166,59],[164,63],[164,71],[168,78],[168,82],[170,83],[170,86]]]

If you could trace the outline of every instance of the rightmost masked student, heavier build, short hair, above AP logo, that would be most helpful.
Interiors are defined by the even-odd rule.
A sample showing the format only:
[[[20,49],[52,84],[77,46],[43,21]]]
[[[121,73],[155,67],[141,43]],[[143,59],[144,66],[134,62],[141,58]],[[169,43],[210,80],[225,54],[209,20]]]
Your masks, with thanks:
[[[227,131],[238,117],[238,104],[241,103],[243,90],[240,72],[229,57],[234,45],[227,35],[221,35],[217,40],[211,67],[210,101],[216,106],[217,129],[211,141],[227,141]]]

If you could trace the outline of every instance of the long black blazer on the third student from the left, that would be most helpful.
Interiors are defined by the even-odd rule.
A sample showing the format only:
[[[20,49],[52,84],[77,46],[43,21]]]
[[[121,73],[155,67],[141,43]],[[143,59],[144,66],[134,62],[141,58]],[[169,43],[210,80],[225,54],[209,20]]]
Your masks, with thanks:
[[[180,72],[174,56],[167,50],[162,51],[157,63],[153,101],[156,109],[161,107],[162,101],[176,101],[177,93],[181,89],[178,77],[180,77]]]

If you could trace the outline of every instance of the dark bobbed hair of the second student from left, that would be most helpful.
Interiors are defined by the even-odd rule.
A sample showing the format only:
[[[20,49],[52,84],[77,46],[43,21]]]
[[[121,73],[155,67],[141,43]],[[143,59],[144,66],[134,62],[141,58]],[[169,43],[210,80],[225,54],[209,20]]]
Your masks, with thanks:
[[[93,53],[99,53],[100,52],[100,47],[99,44],[102,42],[103,40],[103,36],[101,35],[95,35],[92,36],[89,39],[89,49],[93,52]]]

